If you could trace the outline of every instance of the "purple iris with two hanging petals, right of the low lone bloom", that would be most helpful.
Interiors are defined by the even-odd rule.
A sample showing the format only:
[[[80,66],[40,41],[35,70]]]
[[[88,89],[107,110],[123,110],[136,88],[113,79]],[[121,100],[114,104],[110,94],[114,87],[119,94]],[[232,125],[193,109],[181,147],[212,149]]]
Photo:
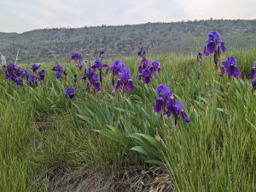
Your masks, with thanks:
[[[85,72],[84,72],[84,77],[83,77],[84,81],[86,79],[89,80],[89,82],[87,82],[86,84],[86,88],[85,91],[89,92],[90,91],[90,87],[91,85],[94,88],[95,92],[98,92],[101,90],[100,87],[100,82],[98,82],[98,75],[96,74],[96,69],[93,68],[88,68]]]

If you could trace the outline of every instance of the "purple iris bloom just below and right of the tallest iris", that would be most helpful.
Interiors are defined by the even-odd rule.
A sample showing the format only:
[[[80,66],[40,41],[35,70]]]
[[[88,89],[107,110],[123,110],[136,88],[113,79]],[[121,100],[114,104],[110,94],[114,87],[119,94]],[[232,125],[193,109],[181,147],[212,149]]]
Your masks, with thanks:
[[[222,68],[221,68],[222,74],[228,74],[230,76],[239,77],[241,76],[241,72],[237,68],[237,61],[236,58],[232,56],[228,56],[226,61],[222,62]]]

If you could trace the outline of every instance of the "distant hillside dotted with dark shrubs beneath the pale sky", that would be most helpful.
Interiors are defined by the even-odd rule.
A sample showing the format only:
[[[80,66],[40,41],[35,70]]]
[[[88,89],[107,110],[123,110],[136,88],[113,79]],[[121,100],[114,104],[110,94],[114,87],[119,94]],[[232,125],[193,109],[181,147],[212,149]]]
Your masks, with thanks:
[[[142,25],[58,28],[18,33],[0,32],[0,53],[22,62],[68,59],[71,51],[94,58],[101,49],[108,56],[150,53],[196,53],[208,31],[219,31],[228,48],[256,47],[256,20],[195,20]]]

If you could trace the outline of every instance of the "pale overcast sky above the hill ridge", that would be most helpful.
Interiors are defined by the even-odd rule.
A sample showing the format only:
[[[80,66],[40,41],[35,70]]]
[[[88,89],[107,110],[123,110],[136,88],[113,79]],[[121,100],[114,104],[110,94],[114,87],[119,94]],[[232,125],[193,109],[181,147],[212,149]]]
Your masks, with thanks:
[[[256,0],[0,0],[0,31],[256,19]]]

